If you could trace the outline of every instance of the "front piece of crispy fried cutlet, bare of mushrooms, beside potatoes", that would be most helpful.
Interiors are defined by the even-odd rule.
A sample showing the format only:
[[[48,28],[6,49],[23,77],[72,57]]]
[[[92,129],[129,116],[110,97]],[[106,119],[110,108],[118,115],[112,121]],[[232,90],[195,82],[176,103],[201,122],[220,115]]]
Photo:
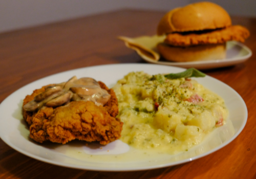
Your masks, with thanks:
[[[106,145],[121,136],[122,123],[91,101],[73,101],[58,107],[49,120],[43,128],[52,142],[65,144],[79,139]]]

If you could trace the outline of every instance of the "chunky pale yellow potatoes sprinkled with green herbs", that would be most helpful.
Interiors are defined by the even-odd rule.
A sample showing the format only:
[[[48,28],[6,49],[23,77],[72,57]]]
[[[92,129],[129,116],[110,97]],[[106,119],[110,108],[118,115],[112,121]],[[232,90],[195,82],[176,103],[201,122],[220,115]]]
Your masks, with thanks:
[[[224,100],[193,79],[132,72],[113,87],[123,142],[161,152],[186,151],[225,124]]]

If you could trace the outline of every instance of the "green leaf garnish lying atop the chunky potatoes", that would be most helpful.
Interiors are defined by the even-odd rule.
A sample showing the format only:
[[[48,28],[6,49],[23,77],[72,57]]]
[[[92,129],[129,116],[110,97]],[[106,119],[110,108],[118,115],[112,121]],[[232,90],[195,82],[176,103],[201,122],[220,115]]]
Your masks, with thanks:
[[[164,75],[165,78],[168,79],[178,79],[178,78],[190,78],[190,77],[205,77],[206,75],[197,69],[191,68],[187,69],[181,73],[170,73],[168,75]]]

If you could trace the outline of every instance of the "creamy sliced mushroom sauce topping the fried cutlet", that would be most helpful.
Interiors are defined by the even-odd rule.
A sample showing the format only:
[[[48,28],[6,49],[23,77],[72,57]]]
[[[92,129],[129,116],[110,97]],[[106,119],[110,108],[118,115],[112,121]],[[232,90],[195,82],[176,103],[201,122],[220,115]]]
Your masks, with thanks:
[[[70,101],[92,101],[96,105],[104,105],[111,95],[102,89],[93,78],[80,78],[76,76],[67,82],[45,88],[45,92],[37,95],[34,100],[24,105],[27,111],[35,111],[42,106],[60,106]]]

